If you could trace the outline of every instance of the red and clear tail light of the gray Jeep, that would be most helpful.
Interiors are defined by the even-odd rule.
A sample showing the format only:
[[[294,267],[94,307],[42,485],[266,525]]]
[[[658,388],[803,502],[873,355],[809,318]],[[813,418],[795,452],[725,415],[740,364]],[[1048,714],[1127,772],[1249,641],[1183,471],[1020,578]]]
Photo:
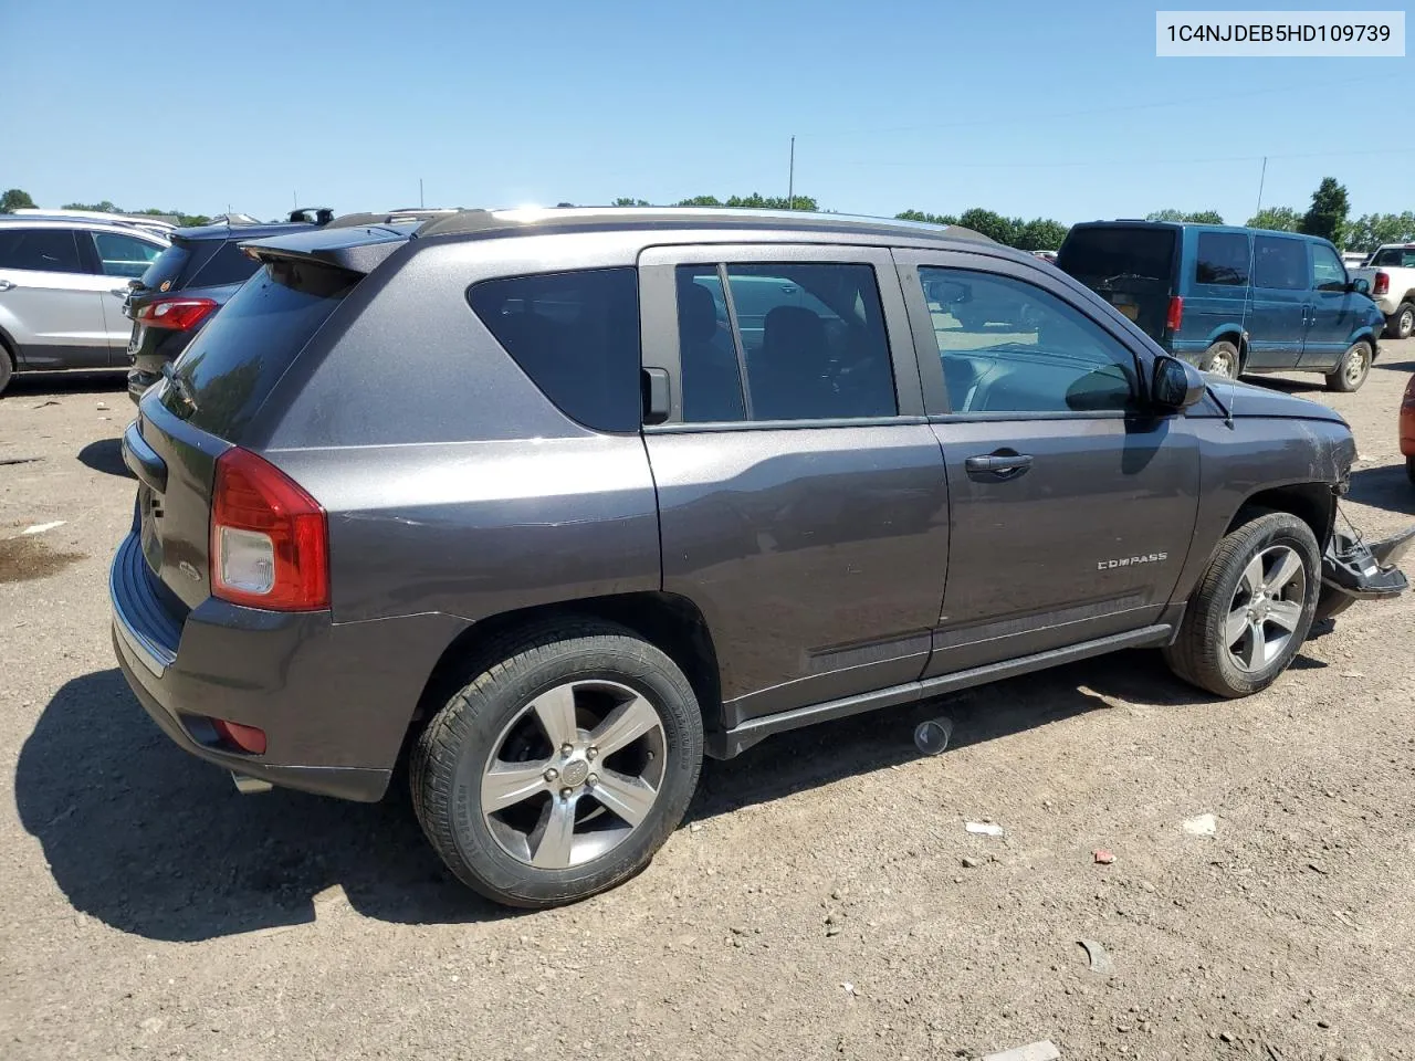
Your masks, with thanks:
[[[330,529],[300,485],[249,450],[216,460],[211,495],[211,593],[272,611],[330,605]]]

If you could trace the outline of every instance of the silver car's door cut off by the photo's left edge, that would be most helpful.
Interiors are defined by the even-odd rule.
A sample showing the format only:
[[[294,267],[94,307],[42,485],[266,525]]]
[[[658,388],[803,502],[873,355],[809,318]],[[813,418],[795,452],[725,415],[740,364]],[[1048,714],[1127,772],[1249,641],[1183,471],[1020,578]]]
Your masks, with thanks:
[[[88,272],[79,239],[59,226],[0,226],[0,321],[28,368],[108,365],[103,298],[115,283]]]

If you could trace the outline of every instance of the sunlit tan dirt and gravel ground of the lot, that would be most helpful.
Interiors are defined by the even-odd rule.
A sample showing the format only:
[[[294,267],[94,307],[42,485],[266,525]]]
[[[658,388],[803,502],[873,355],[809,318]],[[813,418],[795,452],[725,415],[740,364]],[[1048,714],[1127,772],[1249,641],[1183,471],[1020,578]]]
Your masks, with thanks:
[[[1272,383],[1350,419],[1367,530],[1415,512],[1412,369]],[[0,464],[0,1057],[1415,1058],[1415,598],[1242,703],[1136,652],[767,741],[635,881],[508,915],[402,795],[238,796],[143,716],[105,587],[130,416],[112,378],[0,402],[0,461],[37,458]]]

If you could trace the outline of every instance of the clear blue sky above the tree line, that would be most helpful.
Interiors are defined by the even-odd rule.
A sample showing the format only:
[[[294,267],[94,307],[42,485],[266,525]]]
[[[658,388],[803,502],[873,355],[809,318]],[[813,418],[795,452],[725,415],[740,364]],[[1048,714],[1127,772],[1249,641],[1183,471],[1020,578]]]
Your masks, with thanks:
[[[1415,208],[1415,59],[1160,59],[1133,0],[4,7],[0,188],[41,205],[784,195],[795,134],[846,212],[1241,224],[1264,154],[1268,205]]]

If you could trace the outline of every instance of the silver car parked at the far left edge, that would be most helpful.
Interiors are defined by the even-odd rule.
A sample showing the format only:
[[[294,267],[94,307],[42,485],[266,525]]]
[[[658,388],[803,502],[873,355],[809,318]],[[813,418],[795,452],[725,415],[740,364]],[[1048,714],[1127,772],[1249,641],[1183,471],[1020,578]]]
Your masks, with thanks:
[[[0,392],[16,372],[125,364],[127,282],[166,249],[132,225],[0,216]]]

